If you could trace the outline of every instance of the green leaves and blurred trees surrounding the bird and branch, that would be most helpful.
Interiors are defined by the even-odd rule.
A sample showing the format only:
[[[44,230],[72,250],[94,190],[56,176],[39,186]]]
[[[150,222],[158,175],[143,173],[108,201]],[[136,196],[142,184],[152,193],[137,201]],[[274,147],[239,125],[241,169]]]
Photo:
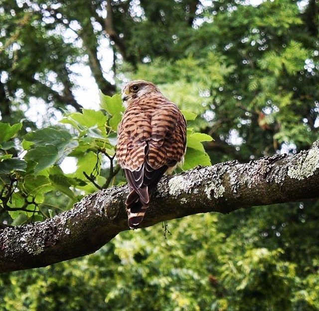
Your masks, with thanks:
[[[318,33],[318,0],[2,0],[1,222],[124,182],[108,96],[130,79],[188,111],[213,164],[309,148]],[[0,310],[319,310],[318,220],[317,200],[169,221],[167,239],[161,224],[123,232],[90,256],[2,274]]]

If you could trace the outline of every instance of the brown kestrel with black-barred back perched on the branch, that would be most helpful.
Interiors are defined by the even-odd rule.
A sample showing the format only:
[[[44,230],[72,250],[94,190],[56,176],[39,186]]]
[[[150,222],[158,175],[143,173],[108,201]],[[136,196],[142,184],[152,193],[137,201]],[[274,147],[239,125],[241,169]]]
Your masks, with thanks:
[[[160,178],[182,162],[186,150],[186,120],[152,82],[135,80],[122,90],[125,106],[118,127],[116,157],[124,169],[130,193],[128,225],[137,228]]]

